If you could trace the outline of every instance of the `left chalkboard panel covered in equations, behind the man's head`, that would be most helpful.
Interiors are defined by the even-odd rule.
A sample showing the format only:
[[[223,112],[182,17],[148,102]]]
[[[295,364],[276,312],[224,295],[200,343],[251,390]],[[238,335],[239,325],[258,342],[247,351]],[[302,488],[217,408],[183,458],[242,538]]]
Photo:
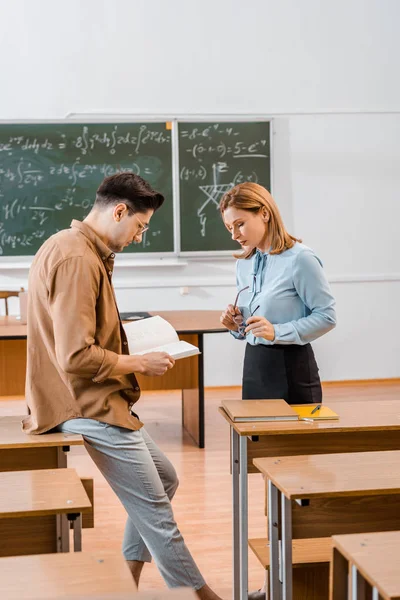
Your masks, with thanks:
[[[107,175],[133,171],[166,202],[129,252],[173,252],[172,142],[166,123],[0,124],[0,255],[29,256],[83,219]]]

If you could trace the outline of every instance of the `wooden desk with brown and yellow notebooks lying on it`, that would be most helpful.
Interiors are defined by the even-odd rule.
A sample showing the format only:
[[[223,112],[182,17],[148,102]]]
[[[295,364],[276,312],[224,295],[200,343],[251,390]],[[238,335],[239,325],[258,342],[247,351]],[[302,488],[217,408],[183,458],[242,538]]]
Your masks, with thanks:
[[[400,399],[328,404],[338,421],[234,423],[220,409],[231,430],[234,600],[248,594],[247,475],[256,472],[254,458],[400,449]]]

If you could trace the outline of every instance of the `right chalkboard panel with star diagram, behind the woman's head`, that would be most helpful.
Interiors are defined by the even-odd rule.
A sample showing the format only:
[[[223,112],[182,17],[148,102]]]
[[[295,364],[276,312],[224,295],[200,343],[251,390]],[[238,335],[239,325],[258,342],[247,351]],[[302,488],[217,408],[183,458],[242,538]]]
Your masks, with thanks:
[[[238,249],[222,224],[219,201],[232,186],[271,186],[270,123],[179,123],[181,251]]]

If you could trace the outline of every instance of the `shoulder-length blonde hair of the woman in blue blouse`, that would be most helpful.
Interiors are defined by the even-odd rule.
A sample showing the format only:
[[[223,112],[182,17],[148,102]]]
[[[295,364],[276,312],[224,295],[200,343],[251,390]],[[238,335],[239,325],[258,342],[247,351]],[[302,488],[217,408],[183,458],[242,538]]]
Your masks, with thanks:
[[[292,248],[301,240],[290,235],[285,228],[279,208],[271,194],[258,183],[239,183],[229,192],[226,192],[219,203],[222,218],[227,208],[237,208],[256,213],[266,208],[269,216],[268,228],[271,236],[270,254],[281,254]],[[235,253],[235,258],[250,258],[255,253],[255,248],[249,248],[242,253]]]

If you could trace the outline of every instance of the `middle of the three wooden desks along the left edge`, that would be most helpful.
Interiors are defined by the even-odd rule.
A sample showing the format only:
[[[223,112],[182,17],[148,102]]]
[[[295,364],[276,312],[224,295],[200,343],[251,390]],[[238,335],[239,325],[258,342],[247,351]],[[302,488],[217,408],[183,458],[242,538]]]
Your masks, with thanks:
[[[65,528],[73,523],[75,551],[81,550],[81,515],[92,505],[75,469],[0,473],[0,489],[2,556],[41,553],[44,519],[53,515],[60,515]],[[26,530],[25,538],[21,530]],[[69,551],[69,537],[62,551]]]

